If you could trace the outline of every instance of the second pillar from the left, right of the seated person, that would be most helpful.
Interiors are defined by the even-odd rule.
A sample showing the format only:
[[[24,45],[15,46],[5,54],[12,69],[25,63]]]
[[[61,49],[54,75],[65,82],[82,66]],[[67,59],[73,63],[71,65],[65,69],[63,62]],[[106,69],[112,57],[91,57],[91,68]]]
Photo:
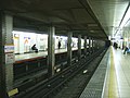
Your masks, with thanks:
[[[54,65],[55,65],[55,28],[51,26],[49,28],[49,36],[48,36],[48,76],[51,77],[54,75]]]

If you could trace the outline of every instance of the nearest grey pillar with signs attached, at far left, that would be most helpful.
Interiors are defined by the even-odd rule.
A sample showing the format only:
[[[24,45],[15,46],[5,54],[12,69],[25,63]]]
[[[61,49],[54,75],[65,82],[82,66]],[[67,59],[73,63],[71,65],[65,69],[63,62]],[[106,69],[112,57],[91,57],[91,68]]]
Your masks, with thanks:
[[[0,12],[0,97],[6,98],[5,91],[13,88],[13,17]]]

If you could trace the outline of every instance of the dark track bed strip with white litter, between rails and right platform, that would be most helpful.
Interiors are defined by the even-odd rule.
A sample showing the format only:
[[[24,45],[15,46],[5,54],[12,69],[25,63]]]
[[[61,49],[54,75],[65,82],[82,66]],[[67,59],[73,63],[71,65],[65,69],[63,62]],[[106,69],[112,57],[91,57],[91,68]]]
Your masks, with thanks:
[[[79,98],[96,70],[101,59],[102,54],[86,65],[83,70],[78,72],[78,74],[76,74],[76,76],[62,88],[62,90],[50,98]]]

